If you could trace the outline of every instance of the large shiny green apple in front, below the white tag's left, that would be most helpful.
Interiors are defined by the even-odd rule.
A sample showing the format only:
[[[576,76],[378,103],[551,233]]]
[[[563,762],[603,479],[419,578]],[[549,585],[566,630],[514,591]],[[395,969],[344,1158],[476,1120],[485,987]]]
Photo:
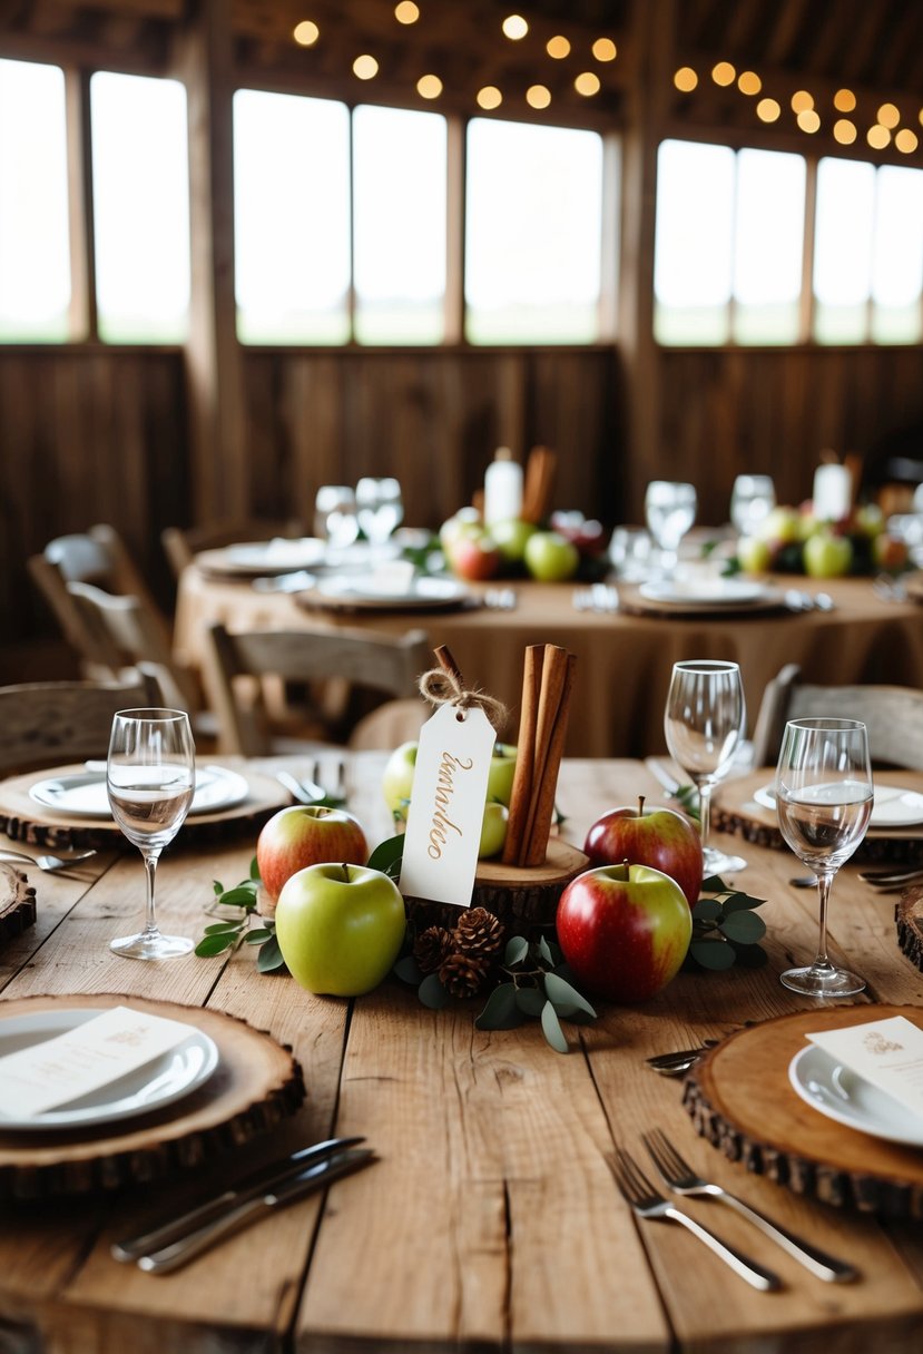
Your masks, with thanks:
[[[371,992],[391,971],[405,930],[398,886],[367,865],[309,865],[279,895],[279,949],[309,992]]]

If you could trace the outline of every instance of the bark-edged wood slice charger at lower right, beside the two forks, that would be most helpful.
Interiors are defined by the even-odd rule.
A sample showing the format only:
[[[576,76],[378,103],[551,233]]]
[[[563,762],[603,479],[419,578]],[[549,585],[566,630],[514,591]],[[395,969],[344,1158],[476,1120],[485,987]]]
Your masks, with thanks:
[[[812,1110],[789,1083],[805,1034],[905,1016],[919,1006],[794,1011],[731,1034],[683,1085],[696,1131],[747,1170],[824,1204],[888,1217],[923,1217],[923,1150],[885,1141]]]

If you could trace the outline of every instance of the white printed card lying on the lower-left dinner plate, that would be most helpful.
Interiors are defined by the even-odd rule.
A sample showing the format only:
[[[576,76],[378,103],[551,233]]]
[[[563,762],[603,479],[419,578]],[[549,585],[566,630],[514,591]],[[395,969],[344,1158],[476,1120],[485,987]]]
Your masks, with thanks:
[[[176,1048],[191,1025],[129,1006],[0,1057],[0,1121],[31,1118],[116,1082]]]

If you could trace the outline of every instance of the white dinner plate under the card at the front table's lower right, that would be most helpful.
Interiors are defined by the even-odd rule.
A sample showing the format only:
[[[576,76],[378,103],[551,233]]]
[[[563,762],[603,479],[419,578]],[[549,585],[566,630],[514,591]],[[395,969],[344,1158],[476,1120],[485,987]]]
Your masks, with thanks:
[[[923,1147],[923,1118],[815,1044],[794,1055],[789,1080],[805,1105],[838,1124],[889,1143]]]

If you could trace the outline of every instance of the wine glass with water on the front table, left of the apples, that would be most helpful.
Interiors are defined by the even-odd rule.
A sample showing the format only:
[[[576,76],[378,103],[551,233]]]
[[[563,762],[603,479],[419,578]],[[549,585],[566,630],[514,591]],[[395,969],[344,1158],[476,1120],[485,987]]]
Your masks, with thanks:
[[[126,959],[188,955],[192,941],[161,936],[154,918],[160,853],[179,833],[195,791],[195,743],[181,709],[120,709],[112,719],[106,785],[112,816],[143,857],[148,876],[145,929],[114,940]]]

